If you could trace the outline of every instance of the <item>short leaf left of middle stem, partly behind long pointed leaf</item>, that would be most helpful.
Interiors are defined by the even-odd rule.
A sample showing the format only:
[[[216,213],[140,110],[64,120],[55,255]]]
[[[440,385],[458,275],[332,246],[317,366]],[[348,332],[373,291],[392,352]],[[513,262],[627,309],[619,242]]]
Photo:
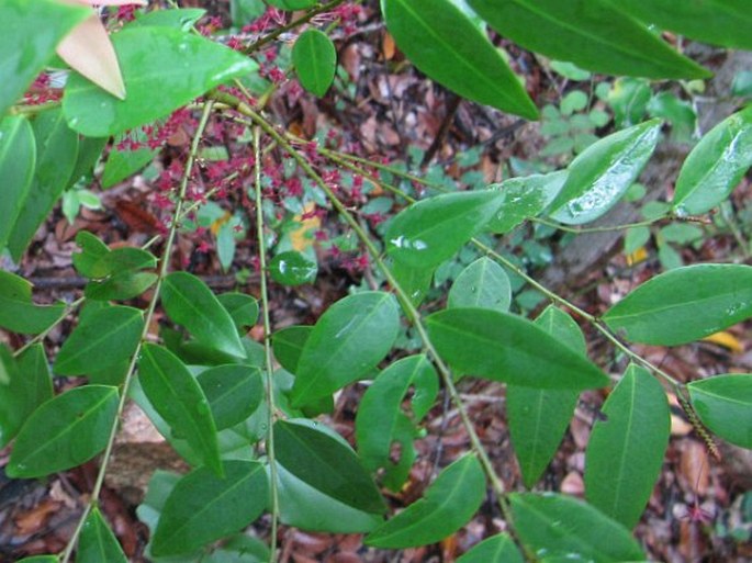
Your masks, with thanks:
[[[217,365],[197,378],[209,401],[217,430],[243,423],[263,398],[261,371],[250,365]]]

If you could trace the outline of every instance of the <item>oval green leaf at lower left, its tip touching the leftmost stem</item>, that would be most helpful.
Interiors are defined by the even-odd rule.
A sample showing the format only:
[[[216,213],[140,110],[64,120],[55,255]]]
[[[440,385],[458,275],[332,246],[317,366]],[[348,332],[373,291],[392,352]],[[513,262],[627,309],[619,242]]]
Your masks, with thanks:
[[[21,428],[5,473],[42,477],[76,468],[108,443],[117,412],[117,389],[86,385],[44,403]]]

